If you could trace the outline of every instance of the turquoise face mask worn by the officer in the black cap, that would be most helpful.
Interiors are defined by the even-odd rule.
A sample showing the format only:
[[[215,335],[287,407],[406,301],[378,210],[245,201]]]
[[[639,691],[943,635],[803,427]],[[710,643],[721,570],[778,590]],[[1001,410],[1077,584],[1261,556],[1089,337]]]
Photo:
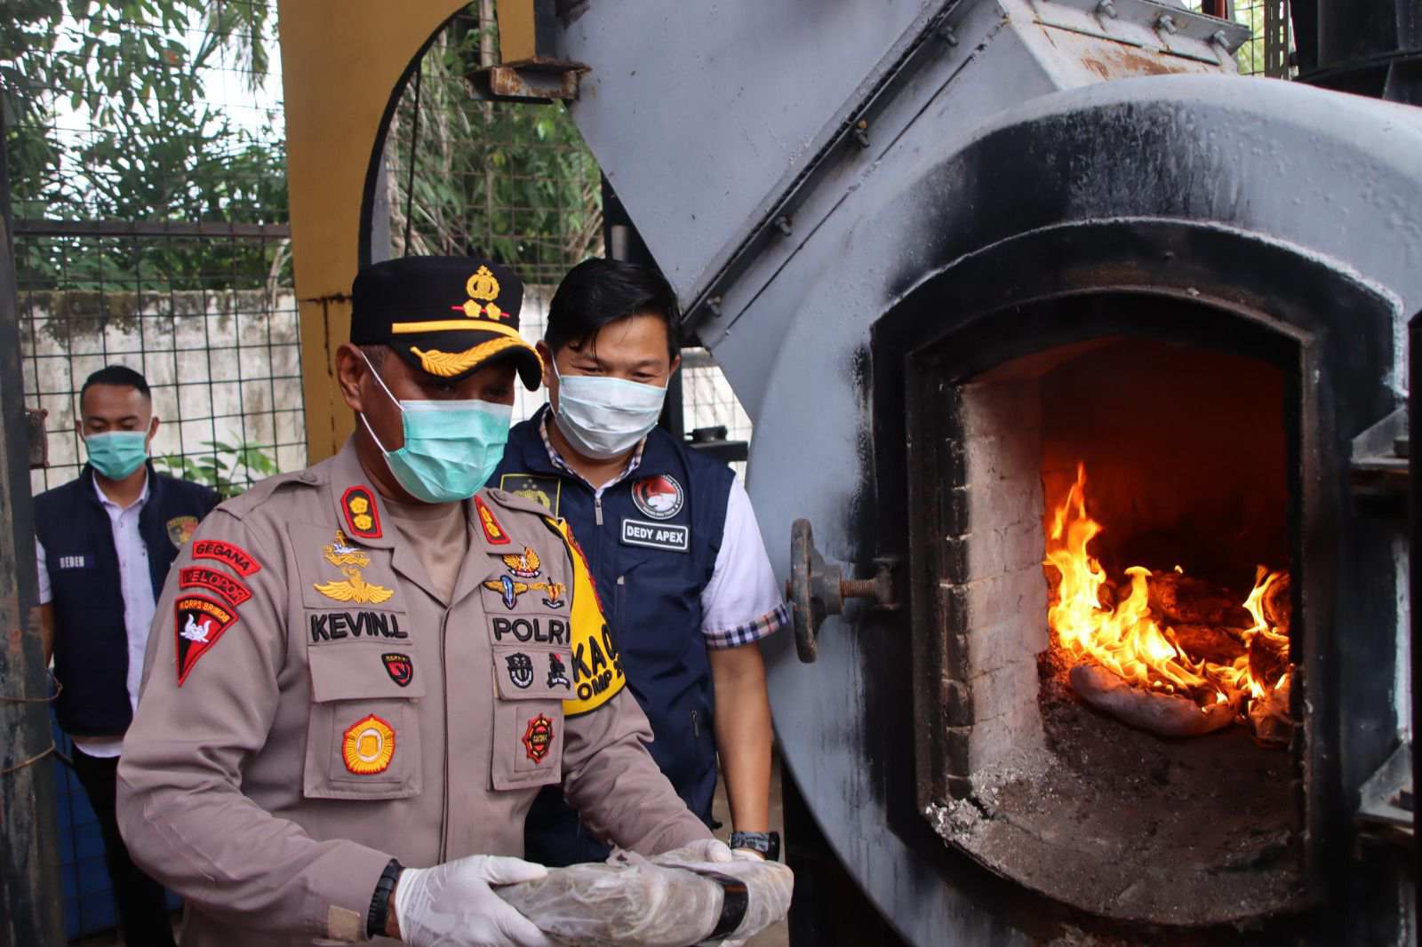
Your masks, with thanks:
[[[368,358],[365,364],[370,365]],[[370,373],[390,400],[400,405],[405,444],[398,451],[387,451],[361,414],[361,424],[385,455],[395,481],[427,503],[454,503],[474,496],[503,459],[513,405],[478,398],[401,401],[385,387],[374,365],[370,365]]]

